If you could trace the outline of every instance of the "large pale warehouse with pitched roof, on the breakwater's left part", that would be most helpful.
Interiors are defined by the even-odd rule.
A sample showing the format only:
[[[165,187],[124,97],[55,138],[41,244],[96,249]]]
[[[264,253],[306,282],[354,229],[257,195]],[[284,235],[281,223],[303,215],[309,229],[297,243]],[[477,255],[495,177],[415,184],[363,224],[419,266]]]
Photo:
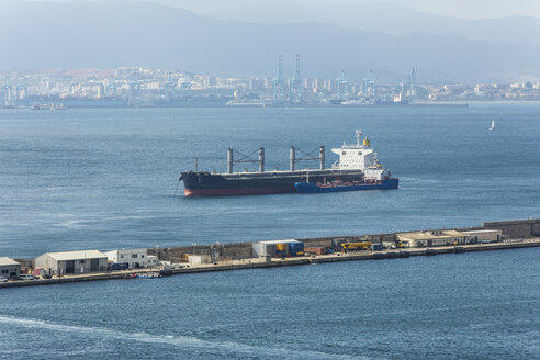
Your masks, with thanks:
[[[50,274],[104,271],[106,263],[106,255],[98,250],[47,252],[35,258],[35,267]]]

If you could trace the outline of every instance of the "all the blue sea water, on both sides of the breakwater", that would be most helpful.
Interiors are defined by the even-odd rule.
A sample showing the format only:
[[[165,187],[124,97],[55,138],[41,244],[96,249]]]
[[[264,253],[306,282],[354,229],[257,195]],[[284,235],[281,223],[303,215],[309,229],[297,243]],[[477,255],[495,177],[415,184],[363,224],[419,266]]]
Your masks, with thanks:
[[[492,120],[496,130],[488,131]],[[400,189],[183,198],[226,149],[355,142]],[[0,256],[540,217],[540,104],[0,111]],[[314,167],[315,164],[305,166]],[[0,359],[538,359],[540,249],[0,290]]]

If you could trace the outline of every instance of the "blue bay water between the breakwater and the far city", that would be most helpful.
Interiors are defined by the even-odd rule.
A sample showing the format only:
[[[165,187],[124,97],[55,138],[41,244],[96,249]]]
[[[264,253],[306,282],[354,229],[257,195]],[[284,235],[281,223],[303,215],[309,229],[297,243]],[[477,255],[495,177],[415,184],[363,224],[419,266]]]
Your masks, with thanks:
[[[540,105],[0,112],[0,255],[373,234],[538,217]],[[487,128],[495,120],[496,130]],[[181,170],[226,149],[371,139],[397,191],[183,198]],[[316,164],[310,164],[315,167]],[[251,167],[255,169],[255,166]],[[241,170],[243,168],[238,168]]]

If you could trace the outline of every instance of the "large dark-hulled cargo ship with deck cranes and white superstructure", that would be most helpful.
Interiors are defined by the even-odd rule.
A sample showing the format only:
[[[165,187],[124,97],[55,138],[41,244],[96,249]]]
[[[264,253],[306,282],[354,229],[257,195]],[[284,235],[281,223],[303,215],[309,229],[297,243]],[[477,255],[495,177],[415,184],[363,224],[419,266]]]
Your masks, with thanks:
[[[290,148],[290,169],[265,171],[265,148],[258,149],[258,159],[240,154],[235,160],[235,151],[229,148],[227,153],[228,171],[226,173],[211,173],[207,171],[182,172],[179,181],[184,183],[185,196],[226,196],[226,195],[255,195],[295,193],[296,182],[331,183],[336,181],[368,184],[376,181],[392,179],[392,184],[397,188],[398,180],[391,178],[389,170],[379,162],[376,154],[370,147],[368,137],[361,140],[361,131],[356,131],[357,144],[344,145],[333,148],[331,151],[339,159],[330,168],[325,167],[325,147],[318,148],[317,157],[296,157],[296,148]],[[238,153],[239,154],[239,153]],[[299,161],[316,160],[318,169],[296,169]],[[259,171],[234,172],[234,165],[241,162],[256,162]],[[308,182],[308,181],[307,181]],[[389,182],[387,182],[389,183]]]

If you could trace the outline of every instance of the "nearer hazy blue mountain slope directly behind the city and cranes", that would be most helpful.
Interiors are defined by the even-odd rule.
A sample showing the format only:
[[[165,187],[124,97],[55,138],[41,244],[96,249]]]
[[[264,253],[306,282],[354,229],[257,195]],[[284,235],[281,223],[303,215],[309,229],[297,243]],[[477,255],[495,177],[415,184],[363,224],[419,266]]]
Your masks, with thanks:
[[[273,76],[278,54],[283,54],[290,77],[293,57],[300,54],[303,77],[336,78],[346,70],[358,81],[371,69],[379,81],[392,82],[417,66],[424,82],[540,78],[538,41],[397,36],[322,23],[248,23],[124,1],[5,0],[0,2],[0,16],[3,70],[150,66],[218,76]],[[509,20],[500,20],[505,21]]]

